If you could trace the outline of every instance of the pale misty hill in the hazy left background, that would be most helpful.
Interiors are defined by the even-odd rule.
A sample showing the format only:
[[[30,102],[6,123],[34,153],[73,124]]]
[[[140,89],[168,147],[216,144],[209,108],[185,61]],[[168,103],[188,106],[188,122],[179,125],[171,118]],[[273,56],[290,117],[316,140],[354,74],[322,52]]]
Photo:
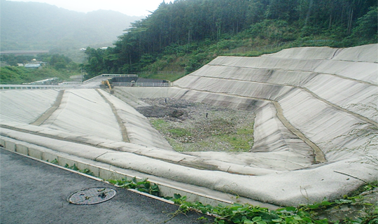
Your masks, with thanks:
[[[110,45],[130,22],[143,18],[111,10],[78,13],[48,3],[5,0],[1,0],[0,14],[1,50],[64,51]]]

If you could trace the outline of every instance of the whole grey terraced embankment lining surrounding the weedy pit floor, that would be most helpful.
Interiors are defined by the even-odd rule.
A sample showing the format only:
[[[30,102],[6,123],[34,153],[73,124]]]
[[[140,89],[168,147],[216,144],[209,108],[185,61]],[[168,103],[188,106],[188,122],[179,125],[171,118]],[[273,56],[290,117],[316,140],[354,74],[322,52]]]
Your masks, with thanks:
[[[119,99],[65,90],[40,126],[37,118],[57,106],[56,91],[1,91],[1,139],[11,151],[146,176],[192,199],[237,200],[232,194],[280,205],[332,200],[378,178],[374,166],[361,163],[367,155],[377,161],[377,149],[358,148],[369,139],[350,135],[377,127],[377,46],[218,57],[174,87],[118,87]],[[146,106],[140,98],[153,97],[251,110],[251,152],[172,151],[133,108]],[[130,142],[123,141],[125,134]]]

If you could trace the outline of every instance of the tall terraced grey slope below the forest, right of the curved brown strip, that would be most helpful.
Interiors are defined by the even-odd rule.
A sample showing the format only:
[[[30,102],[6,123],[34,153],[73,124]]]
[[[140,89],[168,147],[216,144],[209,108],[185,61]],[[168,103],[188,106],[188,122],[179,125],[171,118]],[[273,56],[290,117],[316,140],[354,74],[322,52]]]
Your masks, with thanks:
[[[345,136],[377,125],[374,103],[378,88],[372,74],[377,74],[378,66],[375,55],[365,52],[367,48],[377,45],[353,48],[358,52],[356,61],[350,57],[342,60],[345,49],[331,48],[293,48],[262,57],[218,57],[174,84],[276,102],[286,120],[320,147],[327,160],[339,160],[351,153],[335,153],[335,146],[353,148],[366,141]],[[370,59],[360,62],[364,58]],[[359,70],[344,72],[345,67]],[[276,147],[269,148],[274,151]]]

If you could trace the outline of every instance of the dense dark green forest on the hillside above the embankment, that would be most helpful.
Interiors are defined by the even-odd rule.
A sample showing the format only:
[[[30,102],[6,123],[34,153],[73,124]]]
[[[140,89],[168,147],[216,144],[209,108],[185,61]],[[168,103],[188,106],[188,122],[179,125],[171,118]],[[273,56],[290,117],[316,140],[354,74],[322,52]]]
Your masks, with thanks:
[[[377,43],[377,1],[163,1],[147,18],[132,23],[114,48],[87,48],[84,66],[87,78],[138,71],[188,73],[232,49],[251,48],[244,52],[248,56],[253,47],[283,42],[335,47]]]

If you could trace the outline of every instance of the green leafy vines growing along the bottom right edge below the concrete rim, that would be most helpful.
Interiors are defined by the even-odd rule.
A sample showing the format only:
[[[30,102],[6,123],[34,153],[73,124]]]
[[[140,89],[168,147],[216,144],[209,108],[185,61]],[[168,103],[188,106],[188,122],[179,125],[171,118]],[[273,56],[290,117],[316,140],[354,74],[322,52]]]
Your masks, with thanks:
[[[372,190],[377,188],[374,183],[364,186],[364,190]],[[360,193],[360,190],[358,190]],[[363,223],[372,224],[377,223],[378,220],[378,206],[377,204],[369,204],[364,202],[363,195],[356,195],[353,197],[345,196],[343,199],[329,202],[324,199],[322,202],[314,204],[303,204],[299,207],[284,207],[275,211],[270,211],[267,208],[253,206],[251,204],[231,204],[225,206],[219,204],[217,207],[211,205],[204,205],[201,202],[188,202],[187,197],[175,194],[174,197],[169,198],[175,204],[179,204],[179,212],[186,213],[190,210],[201,211],[203,214],[211,214],[215,216],[215,223],[231,224],[231,223],[252,223],[252,224],[328,224],[328,223]],[[326,209],[338,208],[341,205],[364,205],[366,207],[366,214],[364,217],[351,219],[344,218],[339,221],[330,221],[327,218],[318,218],[318,214]]]

